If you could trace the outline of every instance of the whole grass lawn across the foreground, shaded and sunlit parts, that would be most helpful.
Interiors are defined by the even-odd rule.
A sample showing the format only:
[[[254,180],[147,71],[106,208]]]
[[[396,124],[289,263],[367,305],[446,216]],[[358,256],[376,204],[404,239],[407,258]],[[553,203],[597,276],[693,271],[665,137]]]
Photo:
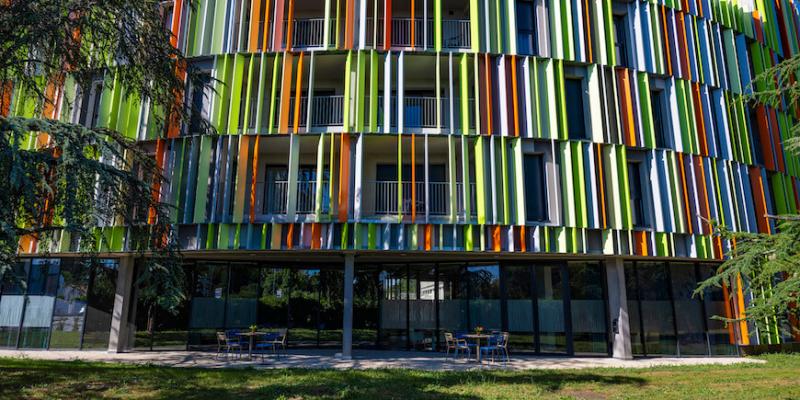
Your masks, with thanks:
[[[0,398],[800,398],[800,355],[761,358],[767,363],[526,372],[211,370],[0,358]]]

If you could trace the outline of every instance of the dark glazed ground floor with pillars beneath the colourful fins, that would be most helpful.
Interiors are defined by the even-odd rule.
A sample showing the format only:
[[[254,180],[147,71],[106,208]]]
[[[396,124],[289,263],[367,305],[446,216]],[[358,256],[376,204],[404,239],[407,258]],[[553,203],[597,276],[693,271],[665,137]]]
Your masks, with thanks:
[[[388,255],[387,255],[388,254]],[[25,259],[0,291],[0,347],[216,351],[216,332],[286,329],[290,351],[442,352],[445,333],[509,332],[512,355],[737,355],[746,326],[707,262],[366,253],[188,253],[177,313],[148,307],[137,262]],[[24,287],[23,287],[24,286]],[[355,351],[355,353],[354,353]],[[513,357],[512,357],[513,358]]]

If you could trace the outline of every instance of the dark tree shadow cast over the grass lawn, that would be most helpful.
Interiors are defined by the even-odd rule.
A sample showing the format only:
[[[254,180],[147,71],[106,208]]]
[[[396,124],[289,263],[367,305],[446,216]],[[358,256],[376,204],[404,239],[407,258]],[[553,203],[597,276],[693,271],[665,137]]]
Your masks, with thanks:
[[[647,383],[615,372],[213,370],[33,360],[0,360],[0,376],[0,398],[471,400],[496,388],[502,388],[508,397],[526,398],[557,395],[565,386],[591,390]]]

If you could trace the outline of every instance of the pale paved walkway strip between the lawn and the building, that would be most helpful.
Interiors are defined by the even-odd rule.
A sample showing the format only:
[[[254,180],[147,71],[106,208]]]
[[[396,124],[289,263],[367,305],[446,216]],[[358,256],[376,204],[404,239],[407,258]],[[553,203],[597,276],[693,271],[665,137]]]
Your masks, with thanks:
[[[336,357],[333,350],[290,350],[287,356],[275,358],[267,356],[264,363],[261,358],[247,360],[235,356],[226,360],[223,356],[217,359],[214,353],[196,351],[154,351],[131,353],[106,353],[102,351],[36,351],[36,350],[0,350],[0,357],[31,358],[38,360],[84,360],[102,362],[122,362],[134,364],[156,364],[171,367],[202,368],[335,368],[335,369],[371,369],[371,368],[410,368],[420,370],[458,371],[478,368],[492,369],[576,369],[576,368],[648,368],[664,365],[700,365],[700,364],[735,364],[760,363],[762,360],[738,357],[685,357],[685,358],[648,358],[635,360],[617,360],[613,358],[593,357],[534,357],[514,355],[507,365],[503,363],[482,365],[459,359],[445,359],[441,353],[422,353],[405,351],[356,350],[352,360]]]

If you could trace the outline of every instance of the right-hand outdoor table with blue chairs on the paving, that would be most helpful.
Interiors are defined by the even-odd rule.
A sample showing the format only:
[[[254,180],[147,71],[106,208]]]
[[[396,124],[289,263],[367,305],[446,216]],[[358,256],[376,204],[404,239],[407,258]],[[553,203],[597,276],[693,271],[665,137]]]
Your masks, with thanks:
[[[453,359],[457,359],[459,353],[463,354],[467,360],[472,359],[475,354],[475,361],[483,363],[483,359],[490,357],[495,361],[498,357],[504,363],[509,361],[508,355],[508,332],[493,331],[490,333],[476,332],[445,332],[445,358],[449,358],[452,353]]]

